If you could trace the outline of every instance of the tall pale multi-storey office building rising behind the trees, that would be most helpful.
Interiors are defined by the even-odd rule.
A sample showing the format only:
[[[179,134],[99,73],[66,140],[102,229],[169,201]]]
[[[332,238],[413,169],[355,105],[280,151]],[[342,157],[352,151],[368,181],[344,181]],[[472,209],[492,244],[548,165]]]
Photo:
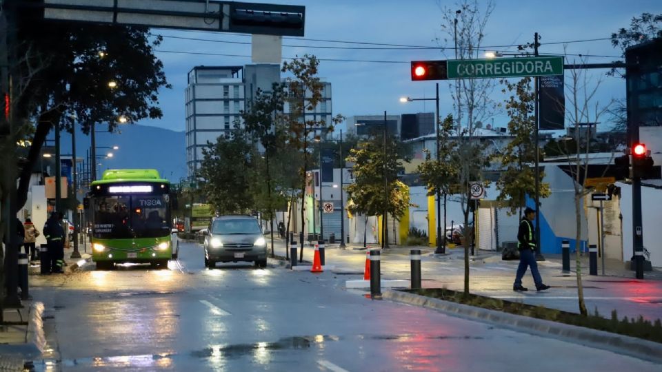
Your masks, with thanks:
[[[203,149],[219,136],[241,127],[241,111],[250,107],[259,90],[271,92],[273,84],[283,82],[280,65],[197,66],[188,73],[185,90],[186,164],[188,176],[200,168]],[[331,83],[322,82],[322,100],[305,110],[303,120],[330,123],[332,116]],[[309,98],[309,97],[307,97]],[[289,112],[285,104],[284,113]]]

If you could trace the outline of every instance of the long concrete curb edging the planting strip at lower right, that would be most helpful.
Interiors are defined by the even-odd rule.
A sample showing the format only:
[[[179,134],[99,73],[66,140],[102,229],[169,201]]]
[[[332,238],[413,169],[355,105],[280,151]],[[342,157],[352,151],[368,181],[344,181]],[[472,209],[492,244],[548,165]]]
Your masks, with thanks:
[[[481,307],[472,307],[465,304],[458,304],[456,302],[439,300],[437,298],[419,296],[413,293],[383,291],[382,295],[384,299],[438,310],[443,313],[448,313],[451,316],[490,322],[502,327],[514,329],[515,331],[526,331],[543,337],[551,336],[554,338],[560,338],[561,340],[574,342],[576,344],[583,344],[596,349],[613,351],[614,353],[630,355],[634,358],[662,364],[662,344],[659,344],[658,342],[598,331],[596,329],[577,327],[570,324],[552,322],[550,320],[503,313],[501,311],[483,309]]]

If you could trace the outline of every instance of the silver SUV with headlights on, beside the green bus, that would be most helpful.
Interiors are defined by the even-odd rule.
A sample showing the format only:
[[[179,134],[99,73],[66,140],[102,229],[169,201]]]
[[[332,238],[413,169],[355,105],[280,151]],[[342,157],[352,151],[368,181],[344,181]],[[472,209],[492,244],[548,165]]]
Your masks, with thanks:
[[[205,234],[205,266],[216,262],[254,261],[267,266],[267,242],[257,219],[251,216],[214,218]]]

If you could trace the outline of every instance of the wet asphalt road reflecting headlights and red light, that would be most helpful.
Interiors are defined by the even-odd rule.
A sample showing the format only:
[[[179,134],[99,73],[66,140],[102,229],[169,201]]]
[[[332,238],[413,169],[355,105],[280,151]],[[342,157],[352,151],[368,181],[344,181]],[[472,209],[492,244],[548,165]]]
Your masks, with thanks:
[[[609,351],[373,301],[359,276],[270,261],[206,269],[181,244],[169,269],[86,265],[33,277],[49,351],[37,371],[659,371]]]

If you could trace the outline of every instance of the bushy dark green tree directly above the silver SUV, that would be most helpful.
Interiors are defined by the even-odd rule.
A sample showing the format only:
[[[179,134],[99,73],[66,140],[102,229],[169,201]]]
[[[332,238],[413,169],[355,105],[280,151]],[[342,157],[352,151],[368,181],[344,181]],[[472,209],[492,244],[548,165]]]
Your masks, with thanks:
[[[203,189],[219,214],[245,213],[253,207],[249,172],[253,166],[251,149],[241,132],[230,138],[219,136],[203,149],[198,175],[205,179]]]

